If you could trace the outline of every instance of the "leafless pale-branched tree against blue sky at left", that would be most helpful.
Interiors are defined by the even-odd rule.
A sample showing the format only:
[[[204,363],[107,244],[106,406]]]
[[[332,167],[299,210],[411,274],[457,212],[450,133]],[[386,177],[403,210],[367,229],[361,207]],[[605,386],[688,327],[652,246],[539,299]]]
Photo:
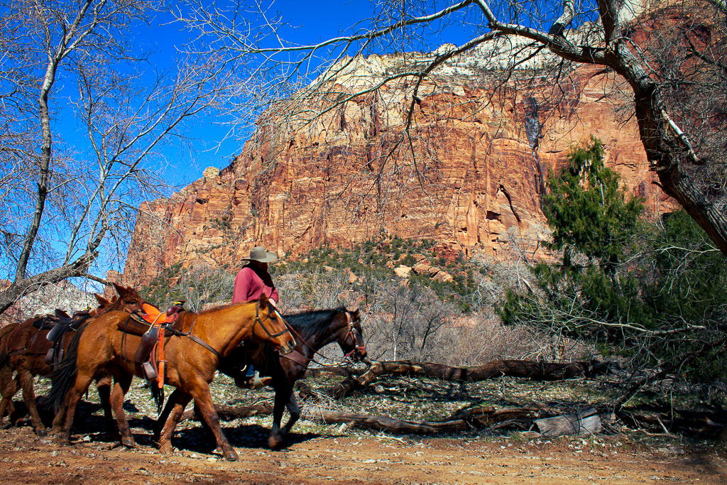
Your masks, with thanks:
[[[0,312],[43,284],[117,260],[136,207],[166,186],[158,148],[182,141],[183,122],[228,86],[215,58],[180,56],[168,72],[144,71],[149,54],[132,36],[161,7],[4,2],[0,259],[14,281],[0,292]],[[79,128],[73,145],[62,138],[69,119]]]

